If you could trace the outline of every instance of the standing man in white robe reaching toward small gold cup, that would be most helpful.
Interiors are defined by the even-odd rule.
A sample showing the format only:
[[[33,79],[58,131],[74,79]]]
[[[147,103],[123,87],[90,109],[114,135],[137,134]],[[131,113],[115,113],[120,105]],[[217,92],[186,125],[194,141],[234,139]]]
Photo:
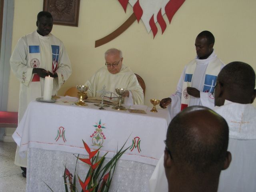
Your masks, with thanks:
[[[185,66],[176,93],[161,100],[160,106],[168,106],[171,119],[188,106],[214,107],[212,92],[217,75],[224,66],[214,52],[214,41],[214,36],[209,31],[198,34],[195,42],[196,59]]]

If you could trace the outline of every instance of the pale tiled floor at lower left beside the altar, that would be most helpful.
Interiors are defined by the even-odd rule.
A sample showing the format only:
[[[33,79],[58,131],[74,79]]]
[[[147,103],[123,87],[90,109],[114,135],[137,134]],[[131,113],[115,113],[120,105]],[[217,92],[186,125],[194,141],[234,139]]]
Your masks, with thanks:
[[[16,143],[0,142],[0,191],[25,192],[26,178],[22,177],[20,167],[14,165]]]

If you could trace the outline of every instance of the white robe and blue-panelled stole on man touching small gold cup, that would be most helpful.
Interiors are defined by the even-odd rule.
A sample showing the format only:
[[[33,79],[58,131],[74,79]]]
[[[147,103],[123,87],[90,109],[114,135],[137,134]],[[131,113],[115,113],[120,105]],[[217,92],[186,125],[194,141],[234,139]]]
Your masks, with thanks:
[[[209,68],[214,68],[215,66],[215,75],[209,74],[209,71],[211,71]],[[190,67],[190,72],[188,72],[188,67]],[[180,112],[181,104],[183,103],[182,98],[184,98],[184,96],[186,97],[186,91],[184,91],[185,86],[194,87],[200,91],[200,98],[188,96],[188,106],[199,105],[214,108],[214,97],[212,96],[212,92],[214,90],[218,72],[220,72],[223,67],[223,62],[217,57],[214,51],[207,59],[196,58],[186,65],[180,76],[176,93],[170,96],[172,104],[168,106],[168,110],[171,119]],[[206,72],[208,72],[208,74]]]

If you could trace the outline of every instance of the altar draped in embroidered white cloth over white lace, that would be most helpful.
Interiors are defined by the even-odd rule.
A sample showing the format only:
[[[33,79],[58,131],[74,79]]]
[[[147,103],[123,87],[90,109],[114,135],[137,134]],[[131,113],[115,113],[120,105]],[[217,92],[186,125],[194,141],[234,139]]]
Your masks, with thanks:
[[[99,146],[106,162],[126,142],[110,191],[148,191],[148,180],[164,150],[170,122],[167,110],[146,114],[99,110],[93,103],[76,106],[68,97],[56,103],[30,102],[13,134],[20,155],[28,152],[27,191],[64,191],[64,166],[74,173],[77,154],[86,157],[84,140],[91,150]],[[130,107],[130,106],[129,106]],[[132,106],[131,106],[132,108]],[[89,166],[78,161],[77,174],[84,179]],[[77,184],[80,191],[80,185]]]

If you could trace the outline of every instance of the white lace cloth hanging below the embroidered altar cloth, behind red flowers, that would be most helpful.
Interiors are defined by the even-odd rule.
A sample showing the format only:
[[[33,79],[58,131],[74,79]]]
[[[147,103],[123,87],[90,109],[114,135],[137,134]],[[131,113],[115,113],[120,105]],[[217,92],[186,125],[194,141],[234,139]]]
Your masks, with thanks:
[[[76,154],[77,155],[77,154]],[[82,155],[82,158],[88,156]],[[106,159],[108,162],[110,159]],[[64,165],[74,175],[76,157],[72,153],[37,148],[28,150],[27,192],[64,192]],[[148,192],[148,180],[155,166],[129,160],[119,160],[109,192]],[[77,174],[84,180],[89,166],[78,160]],[[76,186],[81,186],[76,176]],[[45,183],[46,184],[45,184]],[[118,190],[117,190],[118,189]]]

